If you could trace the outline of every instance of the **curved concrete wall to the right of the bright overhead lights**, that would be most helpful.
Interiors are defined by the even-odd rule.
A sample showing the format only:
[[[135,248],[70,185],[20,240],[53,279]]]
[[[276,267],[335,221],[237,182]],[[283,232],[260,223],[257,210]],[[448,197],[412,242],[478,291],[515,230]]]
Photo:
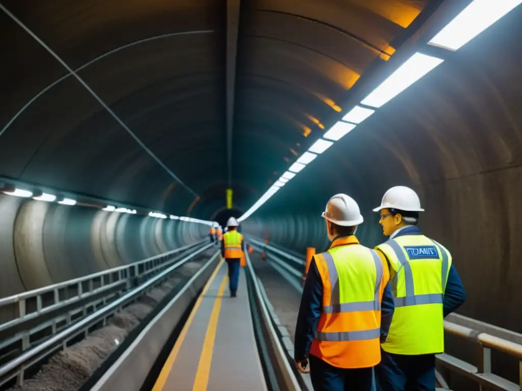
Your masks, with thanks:
[[[384,241],[373,207],[392,186],[419,193],[419,227],[443,243],[465,285],[458,312],[522,333],[522,36],[518,10],[492,26],[307,166],[243,223],[304,254],[327,248],[321,213],[344,192],[357,235]],[[502,44],[499,44],[502,43]]]

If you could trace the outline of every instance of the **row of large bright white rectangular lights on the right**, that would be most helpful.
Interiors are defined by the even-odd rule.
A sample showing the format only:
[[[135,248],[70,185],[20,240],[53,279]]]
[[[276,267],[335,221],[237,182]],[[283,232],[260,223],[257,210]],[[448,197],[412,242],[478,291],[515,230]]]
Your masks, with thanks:
[[[472,40],[497,20],[520,5],[522,0],[473,0],[464,10],[450,21],[429,42],[429,45],[441,47],[448,51],[456,51]],[[334,142],[339,141],[348,132],[370,117],[377,108],[392,100],[410,85],[442,64],[444,60],[422,53],[415,53],[406,60],[392,75],[384,80],[375,90],[367,95],[361,105],[353,107],[342,120],[327,130],[323,138],[317,140],[307,152],[284,173],[238,221],[252,215],[270,197],[279,191],[289,180],[311,163],[319,154],[325,152]],[[371,107],[371,108],[370,108]]]

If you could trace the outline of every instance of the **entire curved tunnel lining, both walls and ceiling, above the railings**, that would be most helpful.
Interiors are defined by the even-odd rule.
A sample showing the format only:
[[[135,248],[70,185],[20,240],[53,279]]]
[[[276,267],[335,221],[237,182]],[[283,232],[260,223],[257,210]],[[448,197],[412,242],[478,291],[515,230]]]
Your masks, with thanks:
[[[466,288],[458,313],[522,333],[522,7],[499,2],[512,10],[458,49],[430,44],[470,3],[0,0],[0,297],[206,240],[231,216],[325,251],[337,193],[373,247],[372,209],[408,186]],[[364,101],[418,54],[435,58],[424,75]]]

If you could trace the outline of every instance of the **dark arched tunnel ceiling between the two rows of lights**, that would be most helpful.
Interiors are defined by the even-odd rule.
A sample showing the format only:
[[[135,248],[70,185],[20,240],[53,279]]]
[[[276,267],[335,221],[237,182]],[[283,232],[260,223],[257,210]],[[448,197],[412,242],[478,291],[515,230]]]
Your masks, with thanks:
[[[0,11],[0,173],[46,186],[208,217],[227,188],[226,2],[3,0],[106,103]],[[248,207],[349,90],[441,1],[240,3],[232,187]],[[424,9],[424,13],[422,13]],[[425,15],[424,15],[425,14]],[[286,158],[286,160],[284,160]]]

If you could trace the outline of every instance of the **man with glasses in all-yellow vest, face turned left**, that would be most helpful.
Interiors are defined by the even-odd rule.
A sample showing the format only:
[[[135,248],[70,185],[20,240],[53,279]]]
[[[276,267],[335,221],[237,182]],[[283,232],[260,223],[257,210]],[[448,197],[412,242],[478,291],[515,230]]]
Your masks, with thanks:
[[[435,391],[435,355],[444,351],[444,317],[466,300],[452,255],[417,227],[419,196],[405,186],[386,191],[379,224],[389,240],[375,249],[390,270],[395,313],[382,361],[375,368],[377,389]]]

